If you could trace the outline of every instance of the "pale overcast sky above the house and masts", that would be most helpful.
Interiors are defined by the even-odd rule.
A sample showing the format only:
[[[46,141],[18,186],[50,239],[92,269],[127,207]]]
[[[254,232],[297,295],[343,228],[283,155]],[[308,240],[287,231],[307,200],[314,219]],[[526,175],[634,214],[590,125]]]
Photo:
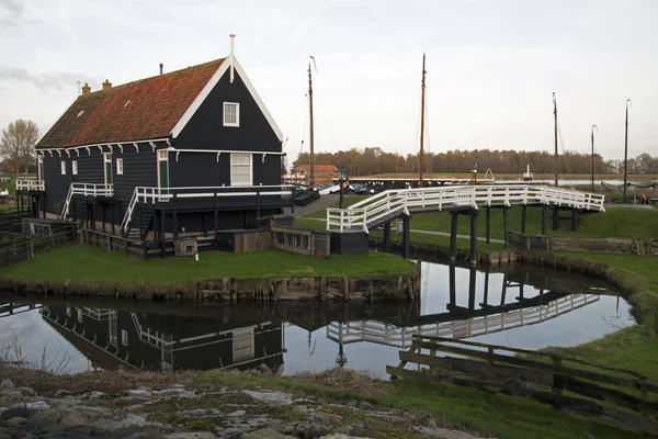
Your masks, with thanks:
[[[229,33],[291,160],[309,55],[318,150],[416,151],[423,52],[431,151],[552,150],[555,91],[567,149],[589,151],[597,124],[597,150],[622,158],[628,97],[629,155],[658,154],[656,0],[0,0],[0,126],[47,130],[78,80],[216,59]]]

